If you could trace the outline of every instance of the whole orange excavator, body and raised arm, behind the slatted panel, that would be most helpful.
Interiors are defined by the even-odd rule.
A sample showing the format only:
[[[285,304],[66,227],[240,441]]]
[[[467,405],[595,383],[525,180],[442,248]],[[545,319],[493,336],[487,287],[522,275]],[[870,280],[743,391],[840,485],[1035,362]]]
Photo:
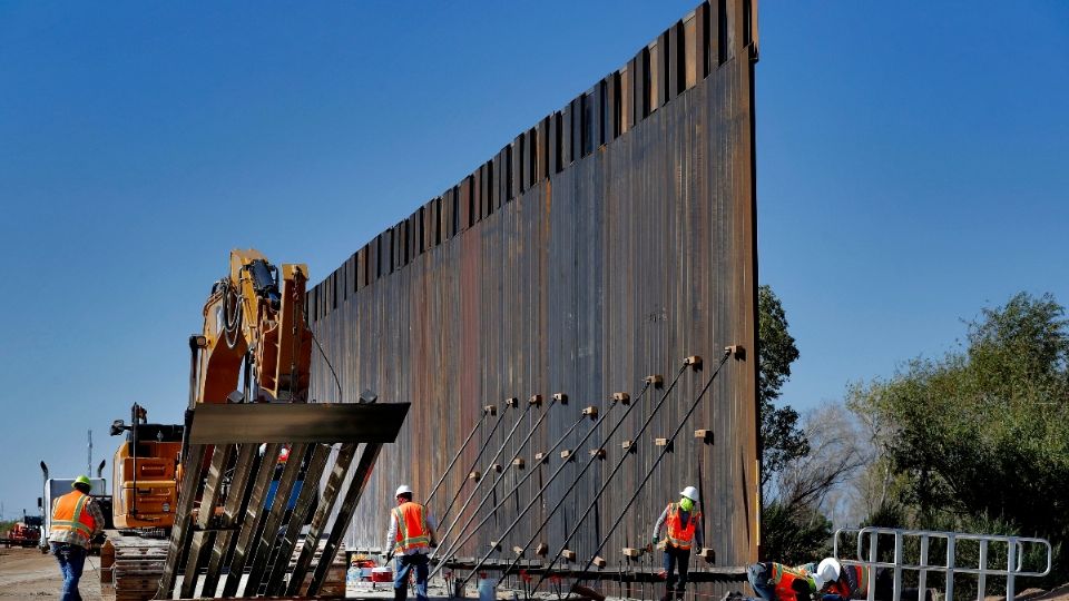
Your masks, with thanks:
[[[232,250],[229,273],[212,286],[204,304],[204,327],[189,337],[186,423],[148,423],[145,407],[135,404],[129,424],[122,420],[111,424],[112,435],[126,434],[112,462],[117,531],[110,533],[102,561],[114,572],[117,590],[122,589],[124,554],[166,550],[189,446],[189,420],[198,404],[307,401],[313,344],[305,318],[307,279],[303,264],[279,268],[257,250]]]

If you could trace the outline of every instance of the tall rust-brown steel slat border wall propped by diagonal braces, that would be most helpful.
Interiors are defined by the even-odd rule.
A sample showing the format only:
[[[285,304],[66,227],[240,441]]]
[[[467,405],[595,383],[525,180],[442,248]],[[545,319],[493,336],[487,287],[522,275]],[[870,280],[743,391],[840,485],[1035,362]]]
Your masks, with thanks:
[[[562,461],[553,456],[539,467],[533,454],[549,449],[585,406],[604,411],[612,393],[634,397],[645,376],[670,381],[684,357],[702,355],[705,370],[680,377],[570,545],[586,559],[653,465],[654,440],[679,423],[723,348],[743,345],[746,357],[724,366],[602,555],[616,564],[620,548],[645,545],[664,505],[693,484],[702,490],[717,565],[756,560],[755,14],[748,0],[700,4],[308,293],[310,319],[343,401],[370,388],[381,403],[413,403],[398,444],[383,451],[351,542],[379,546],[395,486],[409,483],[425,499],[482,407],[497,404],[502,424],[478,469],[487,471],[482,464],[504,444],[503,459],[519,453],[526,470],[543,473],[461,552],[481,555]],[[315,361],[313,397],[336,400],[317,352]],[[548,402],[558,392],[569,403],[550,408],[519,449],[540,410],[504,408],[502,401],[541,394]],[[622,453],[621,440],[660,394],[647,394],[614,440],[602,441],[611,415],[622,413],[612,410],[604,432],[576,450],[582,459],[604,443],[607,457],[562,500],[576,467],[566,469],[530,523],[502,542],[507,556],[528,539],[530,524],[563,503],[541,536],[556,551]],[[491,422],[478,428],[477,441]],[[581,424],[572,439],[589,427]],[[694,437],[700,428],[712,440]],[[457,462],[433,511],[440,514],[458,489],[461,501],[468,496],[474,484],[465,470],[478,449],[471,444]],[[523,475],[516,469],[502,477],[493,503]]]

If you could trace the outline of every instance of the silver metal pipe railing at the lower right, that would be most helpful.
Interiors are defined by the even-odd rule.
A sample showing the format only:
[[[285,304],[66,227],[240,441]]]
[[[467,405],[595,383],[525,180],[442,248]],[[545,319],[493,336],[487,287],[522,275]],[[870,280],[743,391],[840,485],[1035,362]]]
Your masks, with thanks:
[[[894,554],[892,561],[880,561],[880,539],[894,538]],[[847,536],[847,540],[856,536],[856,559],[845,558],[840,554],[840,539]],[[944,541],[947,546],[945,561],[932,563],[929,551],[932,540]],[[867,550],[865,542],[867,541]],[[916,562],[905,561],[905,548],[910,544],[916,544]],[[979,546],[979,561],[977,566],[960,566],[958,564],[960,541],[975,541]],[[1006,568],[989,568],[988,558],[991,543],[1006,545]],[[1024,570],[1026,545],[1042,545],[1047,549],[1047,569],[1042,572]],[[886,546],[884,546],[886,549]],[[865,558],[867,551],[867,558]],[[833,555],[843,565],[863,565],[869,571],[869,601],[875,601],[876,592],[876,569],[890,569],[893,572],[893,601],[902,599],[902,572],[918,572],[918,600],[923,601],[924,591],[928,588],[929,572],[943,572],[945,574],[945,600],[952,601],[954,597],[954,575],[973,574],[977,577],[977,599],[983,601],[987,588],[988,577],[1006,578],[1006,599],[1014,599],[1014,581],[1018,578],[1041,578],[1050,573],[1051,569],[1051,548],[1046,539],[1036,539],[1029,536],[1002,536],[997,534],[970,534],[963,532],[943,532],[935,530],[904,530],[892,528],[863,528],[863,529],[840,529],[835,532],[833,545]]]

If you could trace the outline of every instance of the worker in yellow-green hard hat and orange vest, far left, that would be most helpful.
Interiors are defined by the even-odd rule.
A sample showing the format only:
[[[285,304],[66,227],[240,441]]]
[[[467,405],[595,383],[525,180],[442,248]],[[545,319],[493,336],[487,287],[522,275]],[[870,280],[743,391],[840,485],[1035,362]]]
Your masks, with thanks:
[[[81,601],[78,580],[86,565],[89,541],[104,532],[104,513],[89,495],[88,476],[76,477],[70,487],[75,490],[52,502],[48,544],[63,574],[63,601]]]

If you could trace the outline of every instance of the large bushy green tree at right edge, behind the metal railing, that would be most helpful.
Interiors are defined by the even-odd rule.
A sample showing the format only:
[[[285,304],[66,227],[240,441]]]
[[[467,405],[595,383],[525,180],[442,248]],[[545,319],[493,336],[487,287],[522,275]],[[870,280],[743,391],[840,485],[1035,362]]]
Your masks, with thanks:
[[[911,523],[903,525],[1000,524],[1008,532],[989,533],[1065,540],[1065,308],[1051,295],[1021,293],[983,309],[967,326],[960,348],[935,359],[915,358],[886,381],[852,390],[852,410],[887,424],[881,451],[901,484],[889,502],[911,508]]]

